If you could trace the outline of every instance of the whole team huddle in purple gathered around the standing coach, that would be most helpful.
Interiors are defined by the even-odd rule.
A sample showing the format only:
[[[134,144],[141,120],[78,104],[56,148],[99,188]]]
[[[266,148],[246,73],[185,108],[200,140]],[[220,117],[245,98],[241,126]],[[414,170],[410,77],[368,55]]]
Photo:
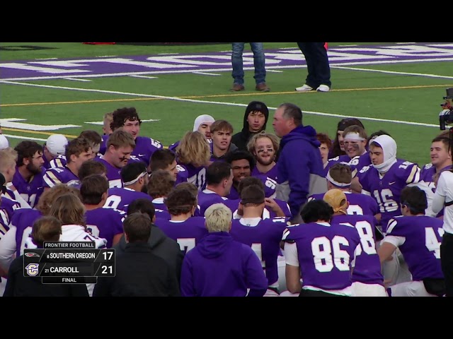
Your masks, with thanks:
[[[103,133],[15,148],[0,134],[4,296],[444,296],[444,208],[437,181],[450,137],[423,167],[385,131],[342,119],[334,140],[284,103],[266,133],[253,101],[243,129],[200,115],[168,148],[140,136],[133,107]],[[439,192],[437,192],[438,194]],[[23,277],[24,249],[46,241],[114,248],[116,275],[96,284]]]

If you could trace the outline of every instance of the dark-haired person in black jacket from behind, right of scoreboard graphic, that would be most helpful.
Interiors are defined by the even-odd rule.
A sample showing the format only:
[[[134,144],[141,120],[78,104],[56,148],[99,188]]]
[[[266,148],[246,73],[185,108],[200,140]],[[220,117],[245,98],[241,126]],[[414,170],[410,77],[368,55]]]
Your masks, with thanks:
[[[132,213],[123,222],[125,251],[116,254],[115,277],[99,277],[93,297],[178,297],[178,281],[163,258],[148,244],[151,219]]]

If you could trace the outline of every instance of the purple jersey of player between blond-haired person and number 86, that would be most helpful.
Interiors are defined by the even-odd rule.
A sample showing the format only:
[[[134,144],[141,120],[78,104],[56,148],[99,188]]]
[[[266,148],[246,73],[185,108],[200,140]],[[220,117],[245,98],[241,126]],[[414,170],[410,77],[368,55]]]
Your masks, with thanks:
[[[258,222],[257,222],[258,221]],[[229,234],[238,242],[251,246],[265,270],[268,285],[278,283],[277,258],[280,254],[280,240],[286,225],[285,218],[236,219]]]

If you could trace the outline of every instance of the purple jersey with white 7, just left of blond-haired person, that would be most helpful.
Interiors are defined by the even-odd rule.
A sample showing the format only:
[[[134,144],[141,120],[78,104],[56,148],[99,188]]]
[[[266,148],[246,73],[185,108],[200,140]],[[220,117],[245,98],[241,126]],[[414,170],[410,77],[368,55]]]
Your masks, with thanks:
[[[178,242],[181,251],[188,252],[207,234],[205,218],[192,217],[185,221],[156,219],[159,227],[167,237]]]

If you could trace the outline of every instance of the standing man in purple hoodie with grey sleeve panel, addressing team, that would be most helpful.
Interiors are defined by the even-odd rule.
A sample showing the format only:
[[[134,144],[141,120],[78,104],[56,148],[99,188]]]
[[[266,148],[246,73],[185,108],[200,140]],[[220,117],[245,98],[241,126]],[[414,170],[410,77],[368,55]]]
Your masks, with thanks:
[[[302,222],[300,210],[311,194],[326,193],[323,161],[312,126],[302,124],[302,110],[297,105],[284,103],[277,107],[273,128],[280,141],[277,162],[276,197],[288,202],[292,222]]]

